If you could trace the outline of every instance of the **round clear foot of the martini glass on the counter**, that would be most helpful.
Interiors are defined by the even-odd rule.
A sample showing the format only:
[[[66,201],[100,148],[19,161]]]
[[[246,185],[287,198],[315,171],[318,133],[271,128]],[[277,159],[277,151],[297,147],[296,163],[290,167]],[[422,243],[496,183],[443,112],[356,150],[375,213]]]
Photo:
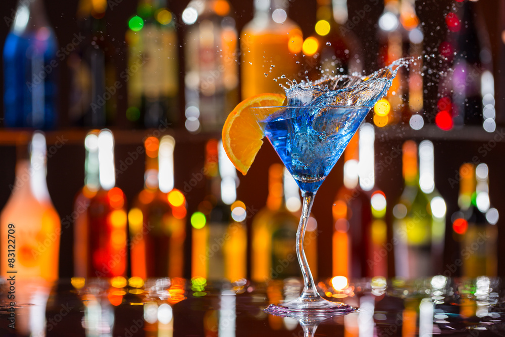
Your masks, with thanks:
[[[282,317],[330,317],[345,315],[358,308],[341,302],[331,302],[323,298],[313,301],[296,299],[281,304],[271,304],[265,312]]]

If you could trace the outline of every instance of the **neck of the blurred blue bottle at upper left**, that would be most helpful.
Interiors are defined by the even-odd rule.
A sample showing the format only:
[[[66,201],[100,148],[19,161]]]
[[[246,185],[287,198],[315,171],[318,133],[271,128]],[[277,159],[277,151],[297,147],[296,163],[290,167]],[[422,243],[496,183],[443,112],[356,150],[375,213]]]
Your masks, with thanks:
[[[15,33],[36,31],[47,26],[49,26],[49,23],[42,0],[19,1],[12,27]]]

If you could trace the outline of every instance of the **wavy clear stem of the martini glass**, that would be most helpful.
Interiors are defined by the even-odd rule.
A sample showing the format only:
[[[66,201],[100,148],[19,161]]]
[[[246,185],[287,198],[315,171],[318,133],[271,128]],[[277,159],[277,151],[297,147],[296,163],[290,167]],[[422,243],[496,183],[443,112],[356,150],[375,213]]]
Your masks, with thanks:
[[[304,277],[305,284],[304,290],[301,292],[299,299],[309,302],[317,301],[321,298],[317,292],[316,284],[314,283],[314,278],[312,277],[311,269],[309,267],[309,263],[307,262],[304,250],[305,232],[307,230],[307,222],[311,214],[315,195],[315,192],[302,191],[301,196],[304,199],[304,206],[301,209],[300,223],[296,232],[296,256],[298,258],[298,263],[300,264],[301,275]]]

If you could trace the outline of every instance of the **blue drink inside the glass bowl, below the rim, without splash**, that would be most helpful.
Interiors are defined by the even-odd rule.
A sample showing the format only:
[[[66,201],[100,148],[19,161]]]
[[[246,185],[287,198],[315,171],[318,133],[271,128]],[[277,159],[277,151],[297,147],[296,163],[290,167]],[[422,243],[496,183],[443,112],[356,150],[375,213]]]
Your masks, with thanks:
[[[368,107],[286,107],[265,135],[303,191],[316,192],[367,115]]]

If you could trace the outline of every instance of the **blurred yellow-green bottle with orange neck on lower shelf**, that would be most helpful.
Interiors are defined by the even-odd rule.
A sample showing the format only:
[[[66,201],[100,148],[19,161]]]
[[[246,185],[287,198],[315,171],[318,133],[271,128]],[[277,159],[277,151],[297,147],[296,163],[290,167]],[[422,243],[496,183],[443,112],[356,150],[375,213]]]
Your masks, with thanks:
[[[426,184],[424,180],[424,168],[423,175],[419,175],[416,142],[407,140],[402,151],[405,187],[393,208],[396,275],[403,278],[435,275],[442,272],[439,254],[443,250],[445,202],[439,196],[427,194],[426,187],[431,183]],[[423,152],[421,155],[424,156]]]

